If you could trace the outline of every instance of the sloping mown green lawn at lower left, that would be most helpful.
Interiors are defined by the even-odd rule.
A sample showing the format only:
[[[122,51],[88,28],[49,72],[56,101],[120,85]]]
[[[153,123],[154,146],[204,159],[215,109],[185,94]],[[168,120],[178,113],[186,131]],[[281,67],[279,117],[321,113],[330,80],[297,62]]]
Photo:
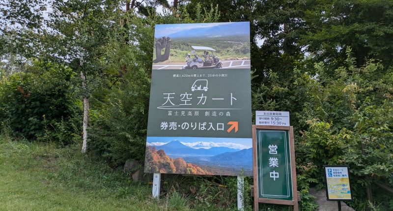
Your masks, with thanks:
[[[13,141],[0,135],[0,210],[171,210],[151,187],[133,183],[78,146]]]

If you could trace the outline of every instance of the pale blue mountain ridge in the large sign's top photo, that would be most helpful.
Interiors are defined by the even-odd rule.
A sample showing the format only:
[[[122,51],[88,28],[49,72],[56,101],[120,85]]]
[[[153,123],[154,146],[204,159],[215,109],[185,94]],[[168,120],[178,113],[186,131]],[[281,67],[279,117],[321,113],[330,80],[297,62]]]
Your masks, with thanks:
[[[233,30],[236,29],[236,30]],[[231,24],[219,25],[215,27],[196,28],[190,30],[181,30],[168,36],[170,38],[182,37],[208,37],[208,36],[233,36],[233,35],[248,35],[250,26],[248,23],[233,22]]]

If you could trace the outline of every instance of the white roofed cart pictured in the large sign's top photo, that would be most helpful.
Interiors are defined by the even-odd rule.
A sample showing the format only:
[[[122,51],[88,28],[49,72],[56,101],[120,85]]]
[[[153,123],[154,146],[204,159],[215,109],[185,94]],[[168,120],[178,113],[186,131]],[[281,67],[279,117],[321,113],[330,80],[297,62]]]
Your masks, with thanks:
[[[191,46],[194,50],[191,51],[191,54],[186,54],[186,66],[183,66],[183,69],[197,69],[197,68],[221,68],[223,63],[219,57],[213,54],[214,49],[203,46]],[[203,59],[197,56],[196,51],[203,51]],[[210,51],[210,53],[209,53]],[[191,58],[193,55],[193,58]]]

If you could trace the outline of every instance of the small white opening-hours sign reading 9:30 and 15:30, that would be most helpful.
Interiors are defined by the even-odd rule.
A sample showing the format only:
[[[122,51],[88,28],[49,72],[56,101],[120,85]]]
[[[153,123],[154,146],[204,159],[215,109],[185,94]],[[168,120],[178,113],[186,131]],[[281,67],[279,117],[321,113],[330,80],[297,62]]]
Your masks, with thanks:
[[[256,125],[289,126],[288,111],[255,111]]]

